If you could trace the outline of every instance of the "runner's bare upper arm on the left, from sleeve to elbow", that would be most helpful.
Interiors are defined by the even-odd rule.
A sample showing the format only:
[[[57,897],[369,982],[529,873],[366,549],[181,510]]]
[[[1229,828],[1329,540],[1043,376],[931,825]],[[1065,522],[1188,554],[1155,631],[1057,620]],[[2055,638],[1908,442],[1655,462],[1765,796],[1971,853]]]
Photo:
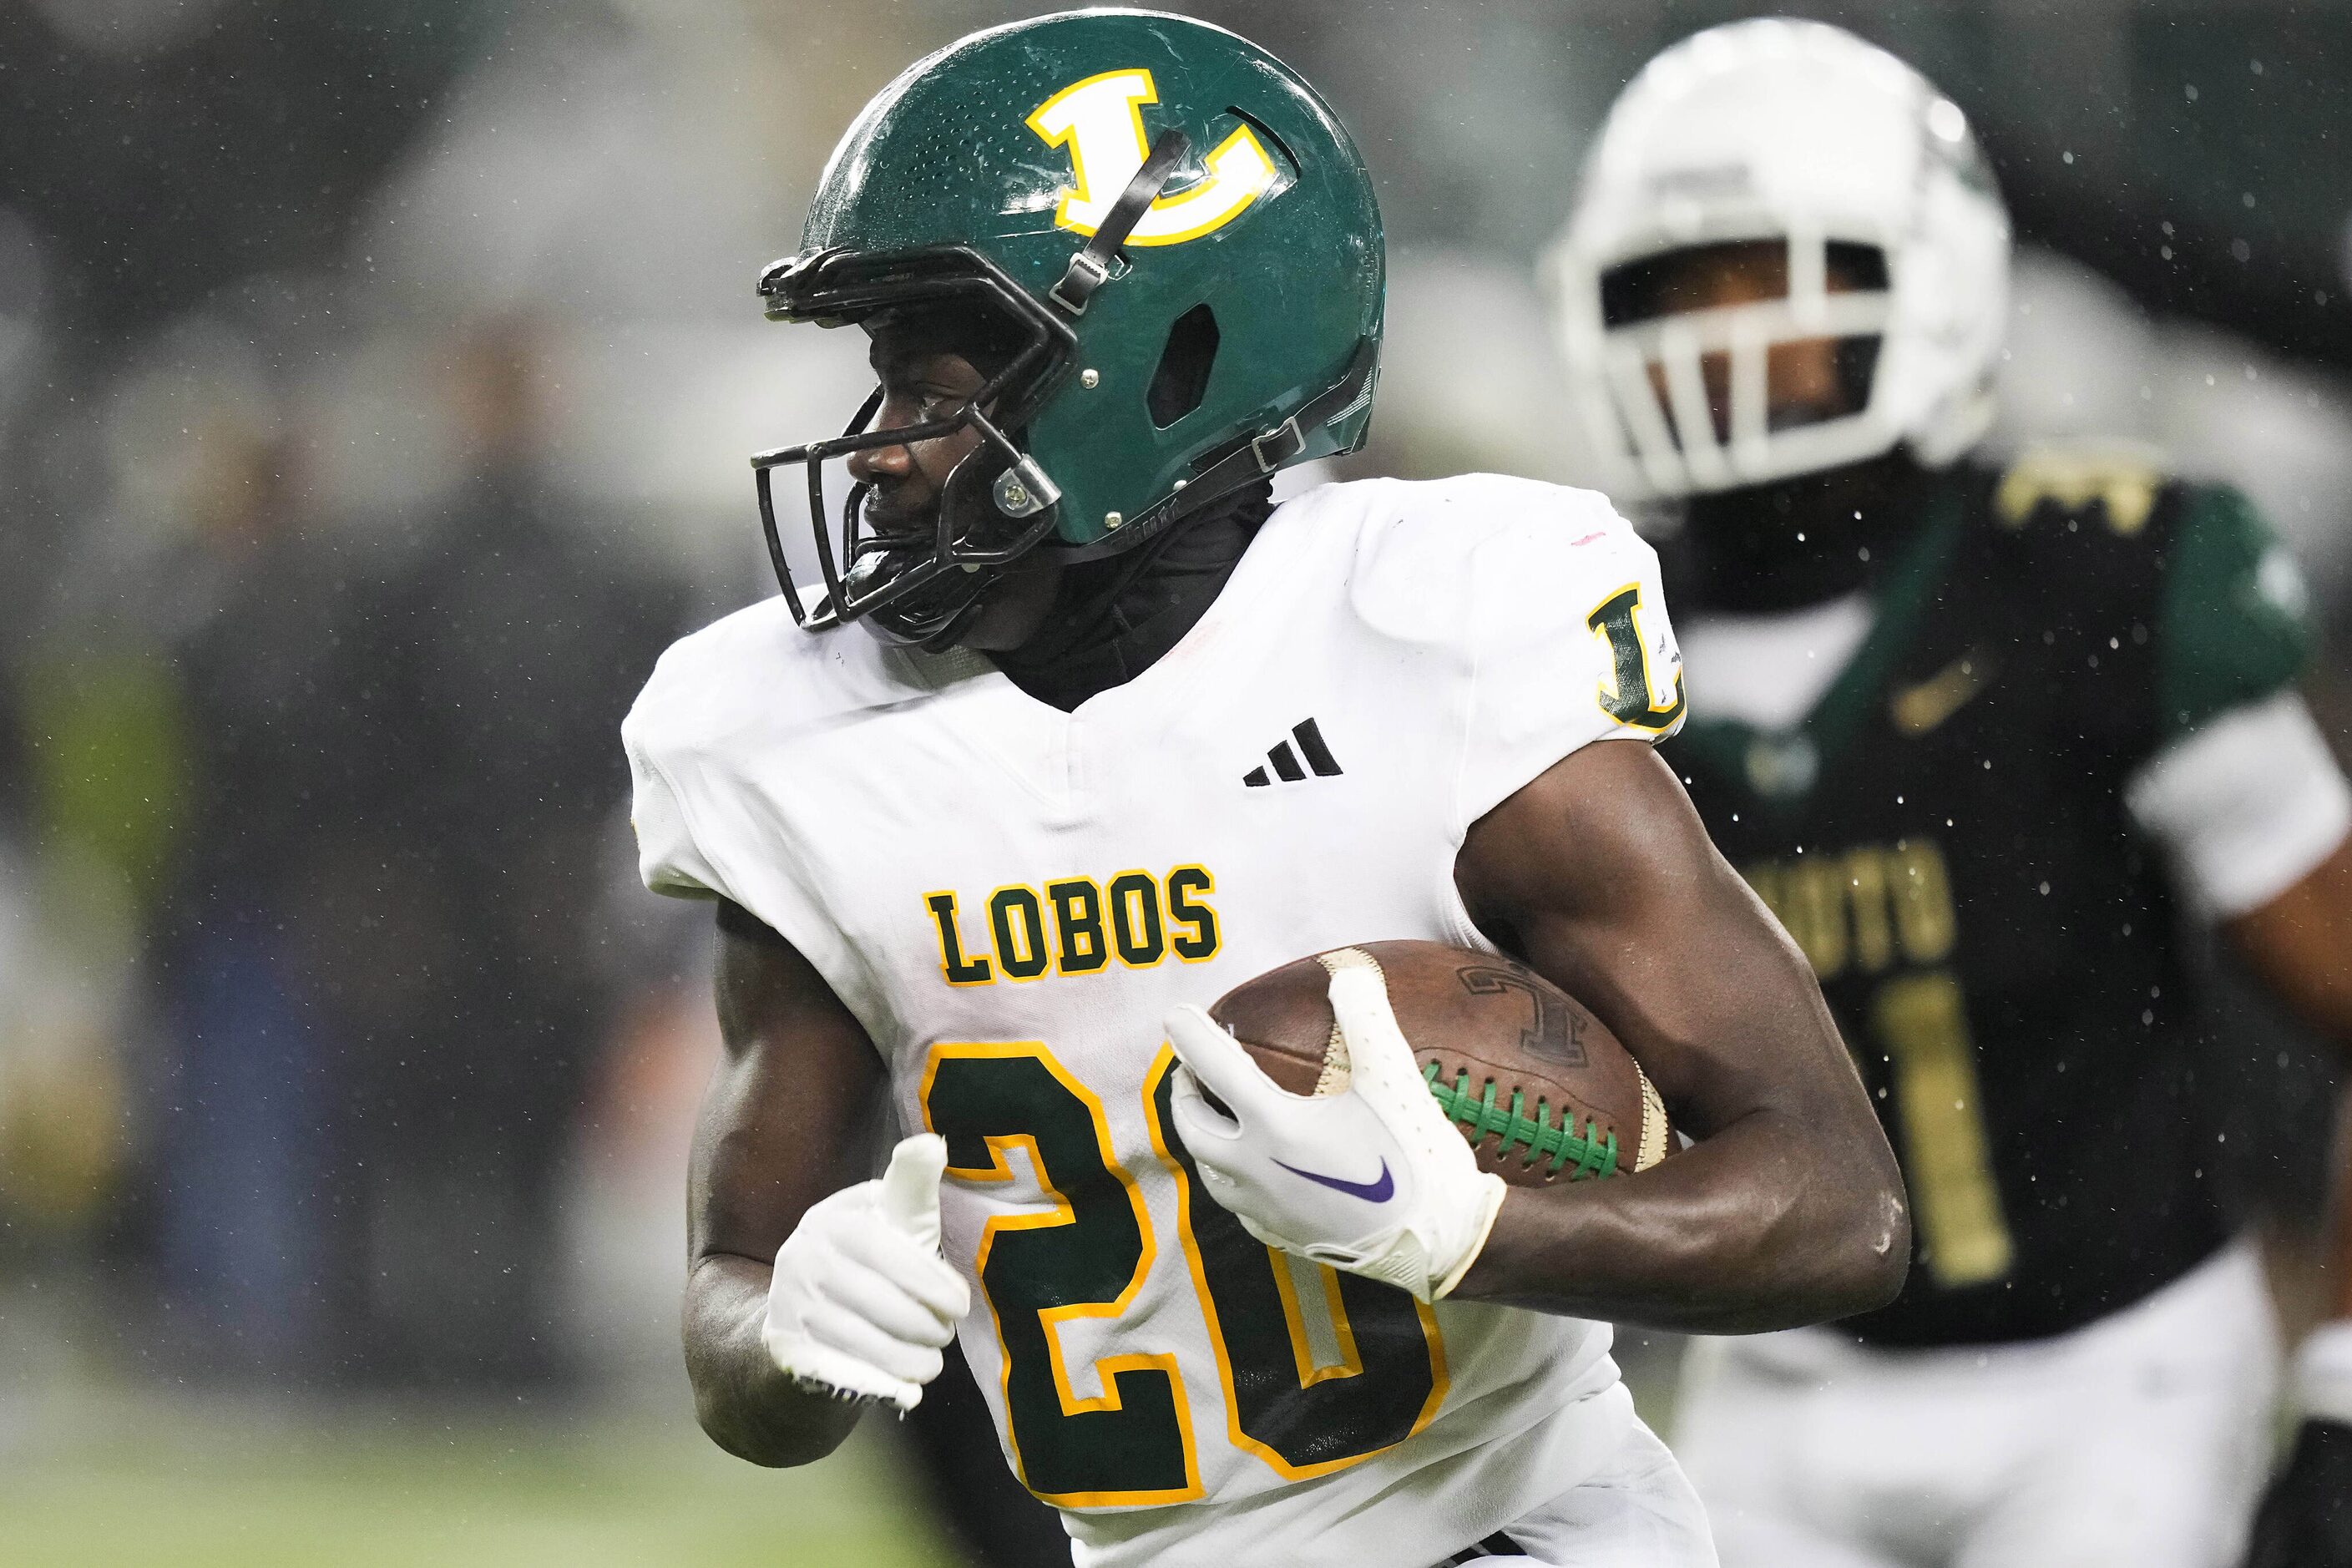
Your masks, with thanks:
[[[689,1255],[767,1262],[816,1199],[854,1178],[882,1060],[826,978],[750,914],[720,922],[710,1074],[687,1187]]]

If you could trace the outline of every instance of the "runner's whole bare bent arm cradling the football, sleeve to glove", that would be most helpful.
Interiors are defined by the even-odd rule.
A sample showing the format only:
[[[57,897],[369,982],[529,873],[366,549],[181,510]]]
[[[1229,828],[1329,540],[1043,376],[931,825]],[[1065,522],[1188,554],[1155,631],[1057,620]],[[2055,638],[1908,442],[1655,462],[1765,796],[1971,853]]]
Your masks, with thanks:
[[[1479,818],[1456,884],[1700,1138],[1639,1175],[1515,1190],[1461,1295],[1710,1333],[1893,1300],[1910,1218],[1886,1133],[1804,954],[1649,748],[1555,764]]]

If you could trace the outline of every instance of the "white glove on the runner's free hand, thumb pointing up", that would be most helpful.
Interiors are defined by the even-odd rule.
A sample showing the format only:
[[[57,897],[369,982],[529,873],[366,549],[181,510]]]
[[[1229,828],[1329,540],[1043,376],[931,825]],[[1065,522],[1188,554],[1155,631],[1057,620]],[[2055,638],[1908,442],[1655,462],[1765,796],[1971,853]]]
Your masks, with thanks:
[[[938,1175],[948,1143],[915,1133],[880,1180],[842,1187],[800,1215],[776,1248],[760,1338],[800,1382],[844,1399],[922,1403],[938,1352],[971,1309],[964,1276],[938,1255]]]

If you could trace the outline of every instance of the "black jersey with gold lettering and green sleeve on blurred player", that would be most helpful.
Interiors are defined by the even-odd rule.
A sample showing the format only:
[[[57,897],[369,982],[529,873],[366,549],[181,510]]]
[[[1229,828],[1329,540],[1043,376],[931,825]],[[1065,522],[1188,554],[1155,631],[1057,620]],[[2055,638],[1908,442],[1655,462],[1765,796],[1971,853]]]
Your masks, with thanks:
[[[2223,1074],[2124,788],[2296,677],[2281,567],[2241,496],[2131,458],[1959,468],[1809,715],[1710,719],[1696,668],[1665,755],[1813,961],[1910,1182],[1912,1276],[1863,1340],[2060,1333],[2220,1246]]]

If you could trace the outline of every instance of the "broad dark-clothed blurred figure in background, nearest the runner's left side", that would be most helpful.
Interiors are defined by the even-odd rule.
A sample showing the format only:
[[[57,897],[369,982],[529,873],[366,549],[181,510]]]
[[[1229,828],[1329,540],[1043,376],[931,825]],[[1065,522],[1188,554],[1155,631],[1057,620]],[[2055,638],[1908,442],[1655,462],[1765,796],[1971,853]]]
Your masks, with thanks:
[[[546,480],[541,350],[524,317],[459,346],[468,475],[343,637],[355,820],[320,889],[350,1048],[355,1371],[459,1392],[567,1378],[553,1215],[614,1001],[586,917],[628,792],[609,736],[682,616]]]

